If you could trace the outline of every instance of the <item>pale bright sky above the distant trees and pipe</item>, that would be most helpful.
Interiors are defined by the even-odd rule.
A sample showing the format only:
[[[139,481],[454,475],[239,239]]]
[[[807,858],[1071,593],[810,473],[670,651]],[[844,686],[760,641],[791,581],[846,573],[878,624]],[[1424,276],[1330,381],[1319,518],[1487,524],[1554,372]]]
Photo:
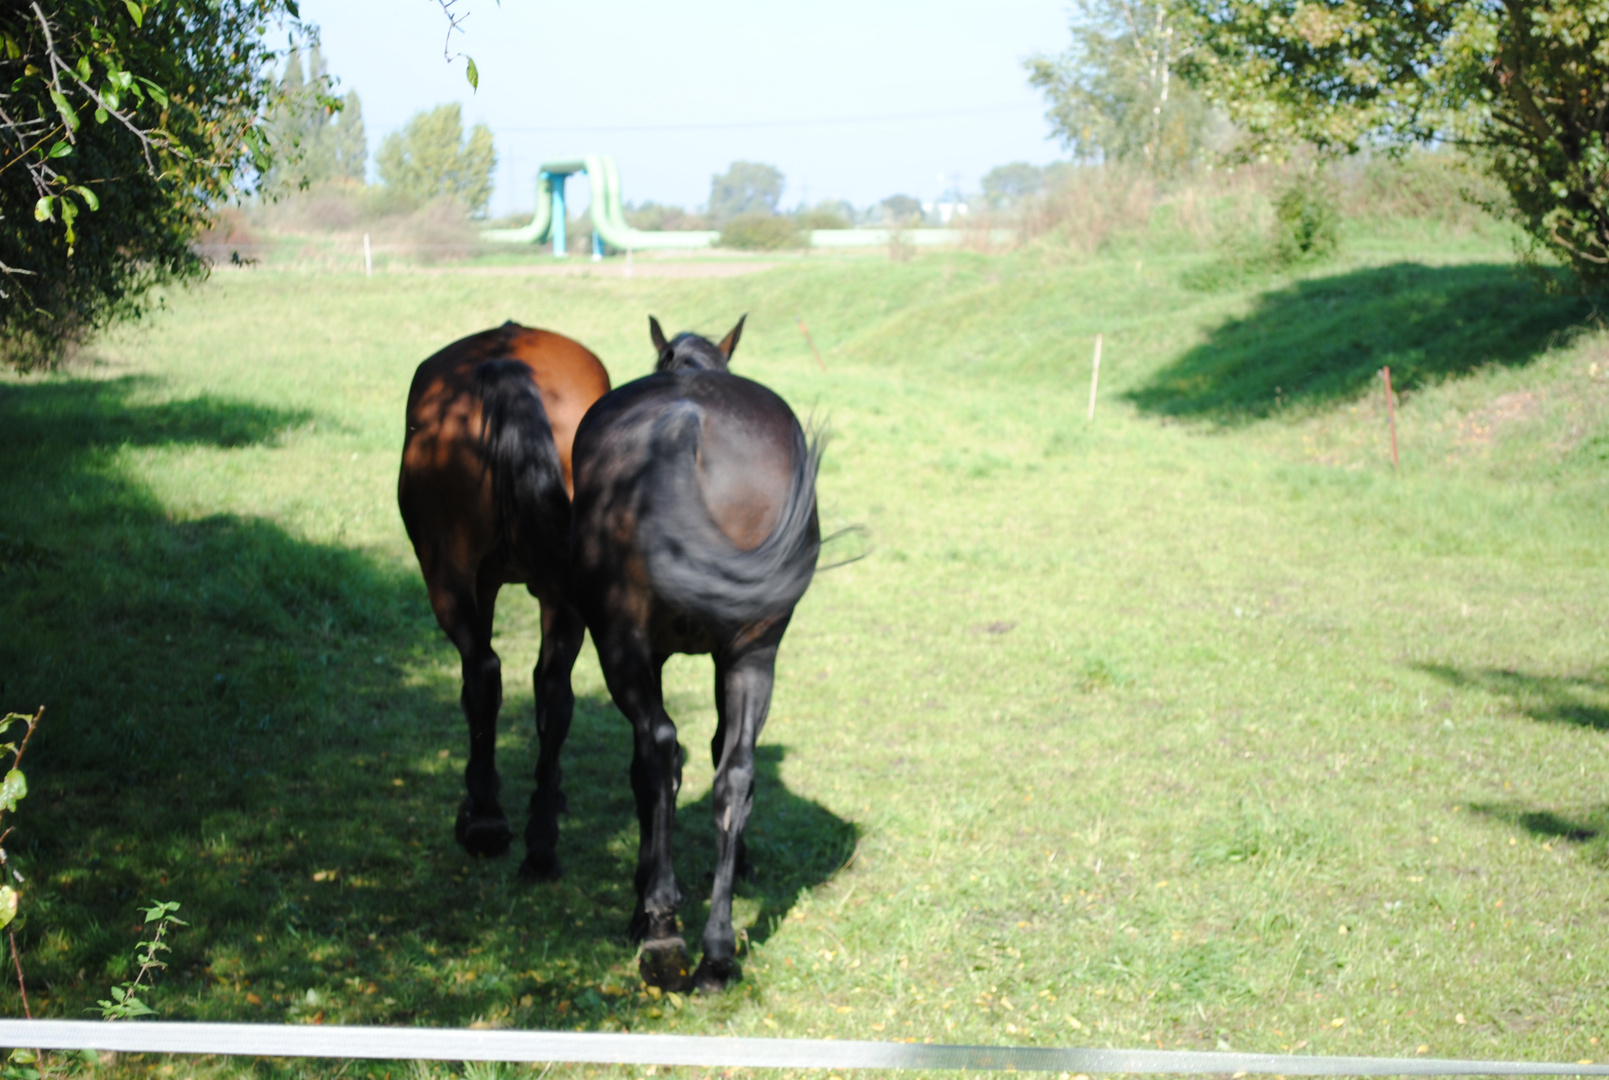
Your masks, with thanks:
[[[302,0],[370,158],[447,101],[497,145],[494,216],[529,209],[542,161],[613,155],[624,198],[693,208],[732,161],[782,169],[782,204],[933,200],[1012,161],[1064,156],[1023,71],[1068,42],[1060,0]],[[372,167],[370,167],[372,171]],[[586,203],[586,182],[570,198]]]

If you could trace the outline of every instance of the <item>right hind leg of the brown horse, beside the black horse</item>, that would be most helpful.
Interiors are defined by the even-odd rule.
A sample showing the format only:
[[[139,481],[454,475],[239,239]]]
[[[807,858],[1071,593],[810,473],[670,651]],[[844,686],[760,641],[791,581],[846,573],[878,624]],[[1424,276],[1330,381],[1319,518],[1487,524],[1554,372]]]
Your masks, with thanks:
[[[542,655],[533,674],[536,681],[536,734],[541,750],[536,760],[536,790],[525,826],[525,863],[520,876],[526,880],[558,880],[558,814],[568,802],[562,787],[560,750],[570,736],[576,695],[570,689],[570,673],[581,653],[586,625],[574,608],[542,605]]]

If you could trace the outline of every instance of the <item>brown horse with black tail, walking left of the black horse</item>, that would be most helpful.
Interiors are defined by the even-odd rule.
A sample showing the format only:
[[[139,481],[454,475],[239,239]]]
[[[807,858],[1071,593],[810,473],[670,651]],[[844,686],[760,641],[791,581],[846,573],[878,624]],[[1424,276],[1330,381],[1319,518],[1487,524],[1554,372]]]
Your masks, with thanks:
[[[436,621],[463,658],[470,763],[455,834],[475,855],[502,855],[512,839],[497,803],[497,591],[523,584],[542,605],[541,750],[521,864],[531,877],[558,876],[558,750],[570,732],[570,671],[584,633],[568,599],[570,451],[582,414],[605,393],[608,372],[586,346],[505,322],[420,364],[407,396],[397,504]]]

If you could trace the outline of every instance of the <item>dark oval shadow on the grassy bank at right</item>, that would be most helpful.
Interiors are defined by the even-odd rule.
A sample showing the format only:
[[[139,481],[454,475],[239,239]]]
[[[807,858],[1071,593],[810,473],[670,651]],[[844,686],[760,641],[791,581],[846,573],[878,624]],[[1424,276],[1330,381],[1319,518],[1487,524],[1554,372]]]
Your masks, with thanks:
[[[1509,266],[1395,266],[1308,278],[1162,369],[1128,398],[1144,412],[1244,423],[1352,401],[1390,365],[1413,391],[1488,364],[1522,365],[1591,315]]]

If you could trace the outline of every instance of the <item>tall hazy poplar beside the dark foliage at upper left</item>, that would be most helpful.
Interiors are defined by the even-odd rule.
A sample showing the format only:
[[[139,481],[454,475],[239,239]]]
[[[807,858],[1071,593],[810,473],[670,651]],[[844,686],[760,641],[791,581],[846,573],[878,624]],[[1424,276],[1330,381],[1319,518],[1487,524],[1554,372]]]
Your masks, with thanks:
[[[280,153],[262,180],[264,190],[280,193],[330,180],[364,180],[368,166],[364,105],[356,90],[335,93],[317,45],[307,53],[306,76],[301,50],[293,48],[286,58],[267,130]]]

